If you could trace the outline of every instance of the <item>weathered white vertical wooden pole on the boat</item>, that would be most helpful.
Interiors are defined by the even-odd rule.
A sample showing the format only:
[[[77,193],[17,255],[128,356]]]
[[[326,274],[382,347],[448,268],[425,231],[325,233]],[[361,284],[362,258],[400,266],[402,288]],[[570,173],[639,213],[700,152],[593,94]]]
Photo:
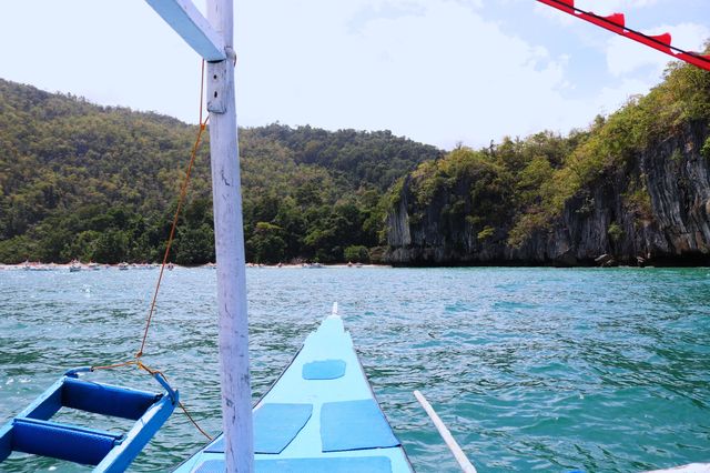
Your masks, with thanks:
[[[233,0],[207,0],[207,20],[223,37],[227,59],[207,64],[207,110],[220,313],[220,378],[227,472],[253,472],[246,270],[236,105]]]

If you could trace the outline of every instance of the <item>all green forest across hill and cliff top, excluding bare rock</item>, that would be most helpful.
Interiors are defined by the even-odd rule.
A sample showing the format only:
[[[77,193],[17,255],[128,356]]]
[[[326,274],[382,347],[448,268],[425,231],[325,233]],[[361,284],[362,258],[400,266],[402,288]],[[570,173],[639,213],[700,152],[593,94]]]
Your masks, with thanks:
[[[693,122],[710,122],[710,73],[672,64],[665,81],[567,135],[544,131],[449,153],[388,131],[281,124],[240,131],[252,262],[377,260],[405,181],[410,223],[432,199],[477,238],[517,245],[609,170]],[[0,80],[0,262],[159,261],[196,127]],[[710,142],[701,154],[710,159]],[[171,260],[214,260],[209,143],[199,153]],[[650,212],[641,174],[625,194]],[[436,208],[436,207],[434,207]],[[611,231],[611,229],[610,229]]]

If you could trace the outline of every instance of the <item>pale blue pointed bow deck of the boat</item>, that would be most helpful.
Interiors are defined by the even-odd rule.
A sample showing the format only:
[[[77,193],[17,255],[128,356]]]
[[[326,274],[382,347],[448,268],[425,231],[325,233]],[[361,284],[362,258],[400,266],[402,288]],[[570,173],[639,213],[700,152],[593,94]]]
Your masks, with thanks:
[[[321,369],[336,372],[336,365],[343,369],[341,376],[304,376]],[[280,453],[255,453],[256,472],[413,471],[377,404],[353,340],[335,314],[306,338],[296,358],[254,407],[255,444],[266,432],[280,430],[277,422],[270,425],[260,419],[260,410],[273,404],[311,405],[312,414]],[[223,472],[223,442],[219,436],[176,472]]]

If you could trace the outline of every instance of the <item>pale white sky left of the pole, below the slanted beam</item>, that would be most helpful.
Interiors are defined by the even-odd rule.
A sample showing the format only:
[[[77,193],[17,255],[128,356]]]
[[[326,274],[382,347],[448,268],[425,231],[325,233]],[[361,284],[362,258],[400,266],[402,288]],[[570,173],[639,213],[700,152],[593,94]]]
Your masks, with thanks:
[[[0,42],[3,79],[197,120],[200,59],[144,2],[8,2]]]

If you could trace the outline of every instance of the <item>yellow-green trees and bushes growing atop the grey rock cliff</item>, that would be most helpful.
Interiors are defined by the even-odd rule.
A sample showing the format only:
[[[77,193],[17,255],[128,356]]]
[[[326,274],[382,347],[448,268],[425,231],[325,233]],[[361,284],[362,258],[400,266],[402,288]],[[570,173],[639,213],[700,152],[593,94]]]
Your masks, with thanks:
[[[570,198],[584,198],[600,179],[619,171],[636,175],[638,170],[630,169],[635,157],[661,145],[683,127],[708,123],[710,72],[671,64],[650,93],[629,99],[609,117],[597,117],[588,129],[568,135],[506,138],[483,150],[459,147],[444,159],[419,164],[393,187],[390,205],[399,202],[406,183],[414,195],[408,202],[410,223],[418,224],[435,209],[437,215],[428,217],[443,222],[439,231],[467,224],[481,242],[504,239],[518,246],[535,231],[549,228]],[[710,139],[700,154],[710,160]],[[646,185],[641,172],[623,194],[625,208],[638,219],[652,218]],[[448,195],[444,205],[434,202],[442,195]]]

